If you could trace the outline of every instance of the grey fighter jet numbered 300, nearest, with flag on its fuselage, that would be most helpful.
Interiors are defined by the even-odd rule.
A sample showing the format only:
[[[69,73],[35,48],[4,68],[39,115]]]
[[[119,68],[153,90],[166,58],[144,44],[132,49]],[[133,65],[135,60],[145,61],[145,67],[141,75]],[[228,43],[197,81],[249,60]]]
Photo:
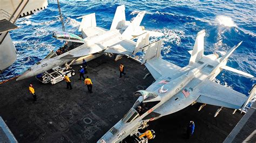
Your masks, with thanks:
[[[255,85],[247,97],[212,81],[223,69],[253,77],[226,66],[228,57],[241,42],[219,58],[217,54],[204,55],[204,36],[204,30],[198,32],[193,51],[190,51],[190,62],[183,68],[160,58],[161,41],[151,44],[142,64],[149,69],[156,82],[146,90],[134,93],[138,96],[136,103],[98,142],[122,141],[144,128],[148,121],[170,115],[195,102],[242,111],[255,96]]]

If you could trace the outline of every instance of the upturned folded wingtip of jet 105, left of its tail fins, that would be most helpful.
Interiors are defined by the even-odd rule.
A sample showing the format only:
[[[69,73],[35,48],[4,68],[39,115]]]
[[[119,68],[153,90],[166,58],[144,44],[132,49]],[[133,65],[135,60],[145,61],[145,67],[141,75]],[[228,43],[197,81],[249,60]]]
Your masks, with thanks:
[[[91,13],[89,15],[78,17],[77,19],[80,19],[80,18],[83,18],[83,19],[82,19],[82,22],[80,23],[80,27],[79,27],[78,31],[82,31],[82,29],[97,26],[95,13]]]

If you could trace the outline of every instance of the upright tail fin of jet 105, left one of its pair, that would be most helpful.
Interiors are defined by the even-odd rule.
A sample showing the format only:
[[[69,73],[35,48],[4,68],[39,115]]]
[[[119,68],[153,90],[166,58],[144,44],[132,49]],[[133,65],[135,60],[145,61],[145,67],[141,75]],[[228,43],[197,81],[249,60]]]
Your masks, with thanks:
[[[110,30],[113,30],[117,27],[125,26],[125,6],[117,6],[116,13],[114,13],[113,22],[111,24]]]

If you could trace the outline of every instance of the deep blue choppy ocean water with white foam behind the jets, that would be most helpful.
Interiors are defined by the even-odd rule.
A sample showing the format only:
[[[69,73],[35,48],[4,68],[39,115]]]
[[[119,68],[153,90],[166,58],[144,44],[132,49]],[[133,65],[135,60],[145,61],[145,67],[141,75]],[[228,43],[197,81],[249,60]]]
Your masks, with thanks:
[[[147,30],[165,34],[161,56],[180,67],[188,64],[197,32],[205,29],[205,54],[225,54],[243,41],[232,54],[227,66],[256,76],[256,2],[86,2],[60,1],[66,32],[79,34],[81,19],[77,17],[96,13],[97,25],[109,29],[118,5],[125,4],[126,20],[139,11],[146,11],[142,21]],[[22,74],[50,51],[64,44],[52,38],[53,31],[62,31],[57,2],[50,1],[47,9],[35,15],[20,18],[11,38],[18,59],[6,69],[7,78]],[[156,40],[156,39],[151,39]],[[144,53],[138,53],[140,59]],[[228,88],[247,94],[255,78],[247,78],[223,70],[215,79]]]

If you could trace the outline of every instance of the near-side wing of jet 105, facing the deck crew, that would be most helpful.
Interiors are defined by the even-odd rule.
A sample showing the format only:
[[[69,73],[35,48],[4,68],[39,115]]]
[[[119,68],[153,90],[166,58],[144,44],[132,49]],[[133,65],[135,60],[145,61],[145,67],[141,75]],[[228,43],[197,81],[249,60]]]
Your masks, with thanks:
[[[131,55],[135,47],[136,42],[132,40],[122,40],[112,46],[107,47],[104,52]]]

